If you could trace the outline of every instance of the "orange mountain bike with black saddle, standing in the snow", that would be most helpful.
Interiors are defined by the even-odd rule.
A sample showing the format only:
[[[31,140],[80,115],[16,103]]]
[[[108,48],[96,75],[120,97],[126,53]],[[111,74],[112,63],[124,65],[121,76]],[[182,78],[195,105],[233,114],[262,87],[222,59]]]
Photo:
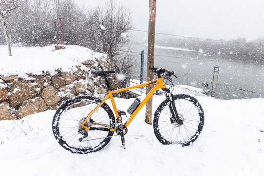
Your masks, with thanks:
[[[187,146],[194,142],[204,124],[204,113],[200,103],[186,94],[173,95],[166,88],[164,78],[170,79],[173,71],[151,67],[157,79],[136,86],[112,91],[106,75],[115,71],[91,71],[97,76],[103,76],[108,88],[108,95],[100,100],[96,97],[82,95],[66,100],[55,112],[52,122],[53,134],[59,144],[73,153],[90,153],[105,147],[114,132],[121,136],[125,147],[124,135],[127,126],[139,110],[145,105],[154,92],[161,88],[166,99],[158,106],[153,119],[154,133],[162,144],[181,144]],[[175,76],[176,77],[176,76]],[[155,85],[141,102],[136,98],[127,112],[130,117],[126,122],[122,116],[126,112],[117,110],[113,94],[132,88]],[[105,101],[110,98],[114,113]]]

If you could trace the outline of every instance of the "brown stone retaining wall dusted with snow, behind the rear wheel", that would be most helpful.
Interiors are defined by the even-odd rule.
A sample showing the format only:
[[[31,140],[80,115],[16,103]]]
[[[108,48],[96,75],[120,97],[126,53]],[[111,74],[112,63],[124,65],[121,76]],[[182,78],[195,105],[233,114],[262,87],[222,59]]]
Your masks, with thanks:
[[[19,119],[45,110],[57,109],[66,99],[77,95],[104,97],[106,88],[101,77],[91,70],[107,70],[108,60],[87,60],[71,72],[55,74],[0,75],[0,120]],[[102,83],[102,84],[101,84]]]

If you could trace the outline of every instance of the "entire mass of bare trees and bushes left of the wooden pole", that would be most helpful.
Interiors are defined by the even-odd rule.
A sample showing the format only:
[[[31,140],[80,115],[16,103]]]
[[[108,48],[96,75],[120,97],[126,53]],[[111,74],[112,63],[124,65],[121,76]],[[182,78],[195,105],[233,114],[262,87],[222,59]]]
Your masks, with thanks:
[[[23,47],[47,46],[56,43],[54,19],[63,20],[63,41],[65,44],[88,46],[108,54],[113,69],[130,79],[134,62],[130,51],[129,31],[132,28],[130,9],[113,0],[104,6],[87,9],[78,6],[74,0],[0,0],[0,8],[8,10],[19,5],[7,18],[11,43]],[[59,29],[57,21],[57,30]],[[60,34],[58,33],[60,38]],[[5,37],[0,26],[0,44]],[[124,82],[124,84],[125,84]]]

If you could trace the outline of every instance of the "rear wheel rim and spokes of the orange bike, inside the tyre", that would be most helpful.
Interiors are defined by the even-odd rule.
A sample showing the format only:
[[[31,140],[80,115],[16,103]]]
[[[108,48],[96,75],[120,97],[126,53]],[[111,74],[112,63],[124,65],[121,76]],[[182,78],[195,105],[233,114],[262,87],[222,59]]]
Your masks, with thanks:
[[[61,145],[66,148],[87,151],[95,150],[105,142],[109,132],[98,130],[87,131],[88,137],[84,138],[82,142],[78,141],[82,137],[78,132],[79,121],[86,117],[96,106],[96,103],[90,101],[75,102],[60,113],[56,125]],[[110,125],[109,115],[102,107],[99,107],[91,118],[97,123]]]

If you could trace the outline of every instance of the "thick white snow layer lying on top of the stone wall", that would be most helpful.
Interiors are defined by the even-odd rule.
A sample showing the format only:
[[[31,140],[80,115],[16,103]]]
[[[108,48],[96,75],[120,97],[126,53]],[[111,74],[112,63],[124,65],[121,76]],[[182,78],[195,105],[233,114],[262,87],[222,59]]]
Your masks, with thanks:
[[[107,57],[106,54],[82,46],[65,46],[66,49],[55,51],[53,45],[43,48],[12,47],[12,57],[8,56],[6,46],[0,46],[0,75],[24,77],[26,73],[40,75],[42,71],[49,71],[51,75],[55,75],[58,68],[63,72],[71,72],[76,65],[86,60]]]

